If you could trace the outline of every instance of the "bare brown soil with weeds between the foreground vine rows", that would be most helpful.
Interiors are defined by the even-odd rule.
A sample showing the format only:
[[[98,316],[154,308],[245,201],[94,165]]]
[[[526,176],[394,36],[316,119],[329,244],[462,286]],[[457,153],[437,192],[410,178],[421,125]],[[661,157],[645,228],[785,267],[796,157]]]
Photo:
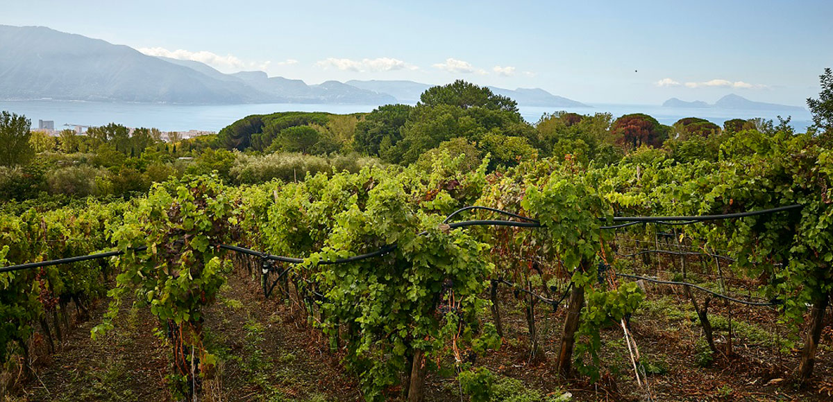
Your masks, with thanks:
[[[690,304],[676,295],[652,290],[649,300],[646,309],[631,318],[631,330],[655,400],[833,399],[833,323],[827,322],[816,362],[816,382],[800,389],[790,380],[798,350],[780,354],[778,348],[761,346],[760,340],[741,334],[733,340],[734,354],[715,356],[710,365],[701,367],[702,353],[697,348],[701,330],[686,322]],[[90,330],[107,309],[107,300],[98,302],[91,310],[92,318],[77,323],[60,351],[38,355],[34,363],[37,377],[23,385],[12,400],[172,400],[164,379],[168,350],[153,335],[157,320],[147,309],[131,310],[129,305],[125,300],[115,330],[92,340]],[[521,380],[544,394],[569,391],[575,400],[643,399],[621,328],[602,331],[600,357],[606,368],[601,380],[593,385],[566,383],[557,379],[552,367],[563,306],[555,313],[550,306],[536,307],[543,359],[531,361],[521,301],[504,290],[500,305],[506,330],[504,345],[479,358],[476,365]],[[733,311],[736,320],[749,320],[750,328],[786,338],[778,333],[774,313]],[[716,314],[725,311],[717,307]],[[274,295],[264,299],[257,281],[245,274],[232,275],[221,300],[206,311],[205,327],[207,347],[221,363],[212,380],[204,383],[204,400],[363,400],[355,375],[347,373],[340,356],[329,351],[328,341],[307,324],[300,310]],[[757,333],[751,331],[752,335]],[[721,334],[718,331],[718,344],[725,348],[726,338]],[[395,395],[397,390],[391,391]],[[429,375],[426,400],[460,401],[456,381]]]

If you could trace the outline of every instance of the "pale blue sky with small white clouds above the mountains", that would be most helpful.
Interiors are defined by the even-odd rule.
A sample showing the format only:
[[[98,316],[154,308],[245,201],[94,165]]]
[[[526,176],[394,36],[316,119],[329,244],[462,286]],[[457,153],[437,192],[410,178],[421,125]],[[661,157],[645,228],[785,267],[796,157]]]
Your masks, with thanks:
[[[460,78],[589,103],[804,106],[833,67],[833,1],[679,3],[2,0],[0,24],[309,84]]]

